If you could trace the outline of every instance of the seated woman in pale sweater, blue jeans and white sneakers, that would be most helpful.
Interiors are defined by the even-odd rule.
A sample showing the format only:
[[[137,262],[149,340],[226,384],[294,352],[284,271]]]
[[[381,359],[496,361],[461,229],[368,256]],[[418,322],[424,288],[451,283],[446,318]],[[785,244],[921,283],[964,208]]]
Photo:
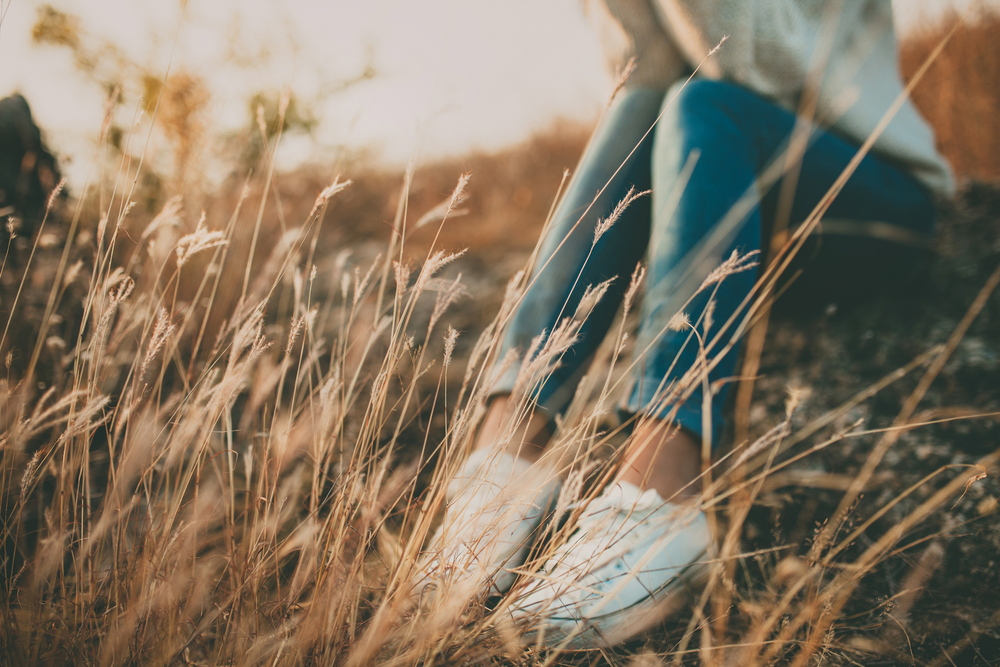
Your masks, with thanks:
[[[890,0],[602,0],[590,9],[612,66],[621,71],[634,58],[635,69],[554,215],[499,355],[537,359],[532,341],[558,330],[588,286],[629,275],[646,256],[625,406],[640,418],[621,470],[512,605],[545,628],[546,641],[577,648],[658,623],[682,585],[704,573],[713,537],[695,482],[737,372],[737,346],[728,343],[754,285],[748,269],[774,225],[809,217],[903,92]],[[797,122],[804,142],[793,138]],[[632,188],[652,192],[634,198]],[[842,248],[847,270],[926,243],[931,198],[952,188],[929,127],[905,102],[824,213],[824,243]],[[608,228],[623,199],[631,203]],[[852,236],[837,239],[830,232],[838,228]],[[726,258],[729,275],[698,291]],[[469,585],[494,593],[513,584],[560,486],[533,464],[627,287],[611,283],[572,332],[551,377],[531,387],[537,409],[514,438],[502,424],[524,366],[500,369],[476,450],[432,540],[432,570],[460,569]],[[686,319],[675,317],[681,308]]]

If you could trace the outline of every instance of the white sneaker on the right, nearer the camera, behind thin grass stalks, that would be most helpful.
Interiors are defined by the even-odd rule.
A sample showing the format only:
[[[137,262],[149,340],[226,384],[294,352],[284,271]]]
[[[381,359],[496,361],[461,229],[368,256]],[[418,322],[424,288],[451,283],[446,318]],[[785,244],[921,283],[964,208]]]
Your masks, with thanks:
[[[548,646],[614,646],[676,612],[713,551],[700,509],[619,482],[590,502],[511,612]]]

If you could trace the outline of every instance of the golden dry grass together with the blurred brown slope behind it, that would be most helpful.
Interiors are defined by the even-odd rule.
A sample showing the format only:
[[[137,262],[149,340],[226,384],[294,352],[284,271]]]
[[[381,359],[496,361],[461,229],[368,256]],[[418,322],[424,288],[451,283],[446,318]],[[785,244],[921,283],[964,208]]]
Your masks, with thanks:
[[[544,165],[551,194],[568,166],[563,156],[578,143],[578,134],[539,139],[517,155],[534,164],[537,150],[563,162]],[[27,286],[16,304],[5,290],[13,324],[0,343],[8,354],[0,407],[4,664],[907,662],[914,589],[937,567],[941,547],[931,542],[906,587],[892,591],[905,612],[895,619],[902,637],[857,631],[859,589],[885,563],[921,549],[918,531],[964,490],[992,483],[983,471],[1000,451],[972,466],[939,466],[864,517],[854,510],[879,481],[887,452],[932,419],[917,407],[1000,272],[969,296],[944,344],[807,419],[804,394],[793,392],[758,437],[706,458],[699,483],[719,553],[704,591],[639,642],[569,654],[523,641],[506,601],[487,606],[479,591],[411,596],[446,482],[484,411],[486,369],[505,363],[496,359],[498,340],[526,286],[525,274],[514,274],[488,317],[458,309],[475,329],[452,329],[464,292],[451,269],[463,258],[443,248],[468,244],[476,261],[497,261],[500,237],[537,223],[549,202],[537,188],[514,187],[525,178],[522,165],[486,158],[469,160],[483,163],[477,178],[500,184],[485,201],[462,201],[475,179],[459,178],[449,195],[434,172],[419,170],[404,175],[393,199],[373,197],[383,185],[352,194],[354,186],[332,177],[321,185],[298,179],[294,187],[309,196],[293,197],[272,187],[271,154],[255,172],[263,178],[209,202],[205,218],[172,200],[142,220],[129,189],[135,166],[112,170],[102,181],[112,187],[64,230],[65,250],[42,248],[0,276],[17,289],[24,277]],[[444,171],[453,179],[459,169]],[[463,231],[454,218],[464,207],[496,226]],[[341,222],[363,218],[370,222],[355,228]],[[373,235],[382,239],[377,249]],[[707,365],[767,302],[779,263],[802,238],[794,234],[762,271],[736,319],[716,323],[713,333],[724,325],[725,335],[671,320],[706,354],[663,388],[662,401],[701,384]],[[528,259],[529,243],[513,247]],[[746,266],[733,258],[701,289],[717,289]],[[560,499],[568,523],[552,529],[552,542],[572,529],[570,503],[595,495],[621,456],[628,425],[614,421],[610,406],[622,390],[629,307],[640,289],[637,274],[551,450],[572,491]],[[584,307],[568,317],[522,369],[522,396],[551,372],[587,315]],[[919,379],[886,429],[848,419],[910,376]],[[865,435],[877,442],[856,476],[801,468]],[[837,500],[818,526],[802,527],[808,537],[748,550],[749,515],[789,485],[834,490]],[[538,550],[526,577],[550,548]]]

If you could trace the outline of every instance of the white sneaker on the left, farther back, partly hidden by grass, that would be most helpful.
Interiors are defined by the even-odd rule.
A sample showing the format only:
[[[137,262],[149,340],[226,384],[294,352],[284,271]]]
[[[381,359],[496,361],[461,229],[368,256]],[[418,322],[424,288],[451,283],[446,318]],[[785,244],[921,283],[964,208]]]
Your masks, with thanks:
[[[551,467],[497,451],[476,451],[448,484],[448,507],[426,552],[417,592],[428,586],[476,595],[506,593],[562,480]],[[454,587],[461,583],[461,592]]]

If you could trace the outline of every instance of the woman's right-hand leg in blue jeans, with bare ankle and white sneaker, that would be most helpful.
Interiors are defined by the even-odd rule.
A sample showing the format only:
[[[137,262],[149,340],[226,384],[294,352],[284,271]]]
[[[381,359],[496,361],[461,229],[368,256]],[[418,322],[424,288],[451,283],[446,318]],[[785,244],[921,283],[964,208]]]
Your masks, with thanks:
[[[704,513],[694,503],[664,499],[695,479],[699,440],[718,439],[719,408],[725,380],[735,371],[736,349],[720,352],[722,346],[710,341],[727,327],[732,331],[727,322],[739,314],[756,272],[737,271],[688,300],[708,271],[698,276],[699,267],[693,267],[696,282],[689,293],[683,291],[690,282],[684,271],[692,268],[691,256],[712,254],[700,253],[705,240],[717,236],[719,221],[745,193],[752,206],[732,233],[718,235],[722,241],[715,256],[760,249],[756,175],[781,152],[794,124],[792,114],[742,88],[700,81],[678,94],[657,127],[649,289],[629,405],[644,416],[618,483],[583,509],[576,531],[543,566],[544,576],[532,580],[514,603],[516,616],[535,624],[544,619],[547,642],[595,648],[629,639],[676,609],[686,583],[707,573],[714,540]],[[802,162],[793,212],[810,210],[855,152],[841,139],[819,134]],[[697,163],[691,168],[693,156]],[[688,175],[683,195],[672,196]],[[838,202],[831,215],[850,215],[858,222],[881,220],[922,233],[933,221],[919,187],[874,157],[862,161]],[[673,317],[678,301],[686,320]],[[725,343],[728,337],[719,340]],[[709,348],[707,365],[700,341]],[[689,391],[673,391],[686,384]],[[708,401],[701,394],[706,385]]]

